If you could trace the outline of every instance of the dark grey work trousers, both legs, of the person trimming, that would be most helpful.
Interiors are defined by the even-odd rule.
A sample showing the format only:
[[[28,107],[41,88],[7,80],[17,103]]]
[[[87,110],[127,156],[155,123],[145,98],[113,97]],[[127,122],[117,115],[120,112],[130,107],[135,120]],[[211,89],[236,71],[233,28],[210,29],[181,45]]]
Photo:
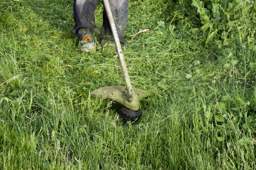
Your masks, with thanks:
[[[96,31],[94,11],[96,10],[98,0],[74,0],[74,21],[73,33],[81,40],[82,36],[93,35]],[[103,11],[103,24],[101,27],[101,42],[113,41],[113,35],[109,24],[108,15],[106,14],[105,5]],[[117,25],[117,33],[122,45],[125,45],[123,32],[127,23],[127,7],[128,0],[109,0],[115,25]]]

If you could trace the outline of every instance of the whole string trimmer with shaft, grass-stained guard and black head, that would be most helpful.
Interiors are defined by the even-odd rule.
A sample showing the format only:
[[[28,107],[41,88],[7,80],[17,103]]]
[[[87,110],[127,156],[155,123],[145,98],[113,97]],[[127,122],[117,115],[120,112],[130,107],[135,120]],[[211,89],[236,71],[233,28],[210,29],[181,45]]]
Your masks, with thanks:
[[[117,27],[114,24],[114,19],[112,11],[110,9],[109,1],[104,0],[105,10],[108,14],[109,24],[111,25],[115,46],[117,48],[117,53],[119,56],[119,61],[122,66],[123,76],[125,77],[125,86],[109,86],[102,87],[94,90],[90,93],[91,96],[106,97],[121,103],[125,107],[121,108],[120,114],[124,120],[136,120],[141,117],[142,112],[139,109],[139,101],[144,97],[150,95],[150,92],[134,89],[131,86],[131,80],[127,71],[125,58],[123,57],[123,52],[119,37],[117,34]]]

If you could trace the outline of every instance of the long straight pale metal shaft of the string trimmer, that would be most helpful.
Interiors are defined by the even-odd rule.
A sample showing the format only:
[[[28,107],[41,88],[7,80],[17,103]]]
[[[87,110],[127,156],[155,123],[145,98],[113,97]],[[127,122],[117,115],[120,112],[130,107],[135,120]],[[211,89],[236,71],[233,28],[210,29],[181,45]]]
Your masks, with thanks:
[[[117,27],[115,26],[114,23],[114,19],[113,19],[113,15],[112,15],[112,11],[109,5],[109,1],[108,0],[104,0],[104,4],[105,4],[105,10],[108,14],[108,18],[109,18],[109,24],[111,25],[111,29],[112,29],[112,33],[113,33],[113,37],[114,37],[114,41],[115,41],[115,46],[117,47],[117,53],[119,56],[119,61],[121,63],[122,66],[122,71],[123,71],[123,76],[125,77],[125,82],[126,82],[126,87],[127,87],[127,93],[129,95],[129,100],[131,101],[131,97],[134,94],[133,91],[133,86],[131,86],[131,80],[127,71],[127,67],[125,64],[125,57],[123,57],[123,52],[122,52],[122,47],[119,41],[119,37],[117,34]]]

